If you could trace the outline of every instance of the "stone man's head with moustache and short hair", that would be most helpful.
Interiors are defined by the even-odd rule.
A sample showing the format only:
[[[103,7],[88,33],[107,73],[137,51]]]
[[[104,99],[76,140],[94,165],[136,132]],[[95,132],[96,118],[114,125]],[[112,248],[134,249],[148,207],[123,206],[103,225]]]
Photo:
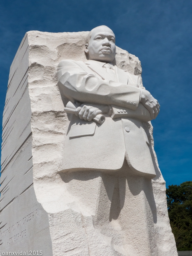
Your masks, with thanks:
[[[89,60],[98,60],[102,62],[112,62],[115,58],[115,35],[107,26],[93,28],[88,35],[87,44],[85,44],[85,53]]]

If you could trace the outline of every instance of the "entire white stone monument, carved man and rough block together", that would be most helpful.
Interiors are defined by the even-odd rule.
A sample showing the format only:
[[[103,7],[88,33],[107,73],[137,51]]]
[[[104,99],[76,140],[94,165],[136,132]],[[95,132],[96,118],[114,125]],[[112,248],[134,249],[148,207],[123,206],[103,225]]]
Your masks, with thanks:
[[[26,33],[3,115],[1,252],[178,255],[141,71],[106,26]]]

